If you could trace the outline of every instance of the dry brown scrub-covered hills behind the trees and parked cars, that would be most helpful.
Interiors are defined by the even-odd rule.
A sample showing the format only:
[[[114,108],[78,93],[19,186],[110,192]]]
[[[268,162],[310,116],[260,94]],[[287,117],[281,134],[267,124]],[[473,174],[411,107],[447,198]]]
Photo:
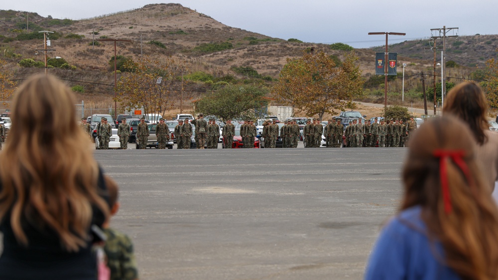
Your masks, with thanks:
[[[258,77],[262,78],[259,83],[267,85],[278,78],[288,58],[299,57],[305,50],[314,48],[324,51],[335,56],[339,63],[348,53],[332,50],[327,44],[272,38],[233,28],[210,16],[171,3],[149,4],[83,20],[54,19],[29,12],[27,31],[26,19],[26,12],[0,10],[0,56],[8,63],[8,68],[14,71],[15,80],[43,71],[40,68],[19,67],[17,64],[26,58],[43,61],[42,55],[35,55],[34,51],[43,48],[43,34],[38,32],[54,31],[50,35],[50,48],[56,51],[50,52],[49,57],[62,57],[75,69],[51,68],[50,73],[66,80],[70,86],[84,86],[85,93],[80,93],[78,98],[94,107],[109,107],[114,85],[113,67],[109,64],[114,56],[114,44],[100,42],[100,39],[130,40],[117,43],[117,54],[134,60],[141,55],[157,59],[173,57],[185,61],[190,73],[202,71],[215,79],[233,76],[244,80],[251,78],[246,70],[257,71]],[[447,61],[453,60],[462,66],[458,73],[452,73],[451,76],[469,78],[471,72],[475,71],[475,67],[470,65],[481,67],[487,59],[495,57],[496,54],[491,50],[497,37],[465,36],[449,43]],[[406,75],[414,76],[432,69],[432,52],[424,50],[428,46],[426,41],[405,41],[389,46],[389,51],[397,52],[398,61],[409,65]],[[383,52],[383,48],[355,50],[364,76],[369,81],[373,80],[368,84],[372,90],[383,85],[383,78],[381,81],[371,79],[375,51]],[[405,91],[420,91],[419,84],[418,80],[407,80]],[[195,87],[200,92],[209,89],[203,84],[191,84],[189,87]],[[390,90],[401,92],[401,79],[390,82]]]

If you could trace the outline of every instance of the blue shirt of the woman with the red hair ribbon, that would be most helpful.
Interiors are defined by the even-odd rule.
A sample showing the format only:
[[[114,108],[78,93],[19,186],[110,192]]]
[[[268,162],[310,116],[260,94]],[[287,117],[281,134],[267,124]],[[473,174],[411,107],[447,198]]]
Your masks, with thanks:
[[[382,229],[365,272],[366,280],[460,280],[444,264],[444,249],[429,240],[420,206],[408,208]]]

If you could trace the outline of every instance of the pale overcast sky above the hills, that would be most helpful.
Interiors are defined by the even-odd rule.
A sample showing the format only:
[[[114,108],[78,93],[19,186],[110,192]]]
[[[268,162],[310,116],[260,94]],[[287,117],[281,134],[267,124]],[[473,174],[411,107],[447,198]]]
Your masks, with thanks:
[[[271,37],[310,43],[342,42],[355,48],[429,38],[432,28],[459,27],[447,35],[498,34],[497,0],[173,0],[221,23]],[[386,2],[389,2],[388,4]],[[10,0],[0,9],[83,19],[140,8],[154,0]],[[432,35],[439,35],[432,33]]]

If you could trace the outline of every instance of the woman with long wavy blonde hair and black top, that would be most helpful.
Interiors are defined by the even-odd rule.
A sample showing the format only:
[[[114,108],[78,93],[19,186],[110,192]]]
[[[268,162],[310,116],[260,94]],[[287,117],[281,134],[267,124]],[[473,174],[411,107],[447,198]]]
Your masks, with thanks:
[[[38,75],[15,93],[0,153],[0,279],[97,279],[92,225],[109,212],[71,90]]]

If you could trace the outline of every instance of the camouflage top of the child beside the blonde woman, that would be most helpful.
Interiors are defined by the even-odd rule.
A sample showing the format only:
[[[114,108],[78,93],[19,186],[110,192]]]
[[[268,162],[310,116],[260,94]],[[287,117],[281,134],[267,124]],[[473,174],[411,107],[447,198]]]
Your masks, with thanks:
[[[105,228],[103,231],[107,236],[104,252],[107,256],[107,266],[111,270],[110,280],[138,279],[131,239],[112,228]]]

